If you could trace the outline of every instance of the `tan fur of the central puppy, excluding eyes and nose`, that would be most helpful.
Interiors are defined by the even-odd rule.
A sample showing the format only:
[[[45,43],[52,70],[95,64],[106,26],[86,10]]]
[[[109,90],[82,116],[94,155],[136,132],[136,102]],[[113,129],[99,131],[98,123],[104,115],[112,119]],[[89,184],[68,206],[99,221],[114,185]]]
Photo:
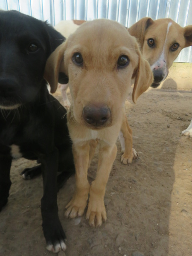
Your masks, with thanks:
[[[73,61],[75,52],[80,52],[83,57],[82,67]],[[130,62],[126,67],[118,68],[117,61],[121,55],[128,56]],[[148,62],[143,59],[135,38],[122,25],[111,20],[94,20],[82,24],[52,53],[44,73],[52,92],[57,88],[59,71],[69,77],[72,102],[67,120],[76,166],[76,191],[67,204],[65,215],[70,218],[81,216],[89,194],[86,218],[91,226],[100,226],[102,220],[107,218],[105,186],[116,157],[116,139],[120,129],[127,129],[131,134],[123,110],[131,79],[135,79],[133,100],[136,102],[140,94],[150,86],[152,72]],[[111,118],[105,125],[96,127],[85,122],[82,113],[84,107],[90,104],[108,106]],[[130,142],[132,137],[128,137],[128,143]],[[87,169],[97,143],[97,174],[89,185]]]

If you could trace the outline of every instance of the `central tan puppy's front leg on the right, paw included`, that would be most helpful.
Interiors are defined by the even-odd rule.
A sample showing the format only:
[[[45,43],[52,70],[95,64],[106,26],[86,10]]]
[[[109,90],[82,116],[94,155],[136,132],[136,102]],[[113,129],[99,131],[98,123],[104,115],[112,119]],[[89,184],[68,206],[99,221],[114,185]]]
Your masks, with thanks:
[[[86,219],[89,219],[89,224],[93,227],[101,226],[102,220],[106,221],[107,219],[104,205],[105,186],[116,157],[116,151],[116,145],[110,147],[103,143],[99,148],[97,175],[90,186],[90,198],[86,214]]]

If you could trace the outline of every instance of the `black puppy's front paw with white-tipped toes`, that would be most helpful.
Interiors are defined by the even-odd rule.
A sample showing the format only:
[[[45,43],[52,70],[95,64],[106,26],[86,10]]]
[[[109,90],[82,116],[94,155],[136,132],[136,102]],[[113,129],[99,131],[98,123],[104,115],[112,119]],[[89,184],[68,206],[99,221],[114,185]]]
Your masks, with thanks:
[[[47,250],[53,253],[58,253],[61,250],[66,250],[66,236],[60,221],[49,221],[49,223],[44,223],[42,226],[44,230],[44,236],[47,242]]]

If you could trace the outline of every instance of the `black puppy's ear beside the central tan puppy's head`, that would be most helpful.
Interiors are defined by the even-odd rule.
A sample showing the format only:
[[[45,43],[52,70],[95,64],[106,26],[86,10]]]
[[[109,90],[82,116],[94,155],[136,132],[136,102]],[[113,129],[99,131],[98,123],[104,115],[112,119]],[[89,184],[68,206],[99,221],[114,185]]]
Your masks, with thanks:
[[[52,27],[52,25],[48,24],[47,21],[44,22],[47,30],[48,36],[48,56],[60,45],[62,44],[66,38],[61,35],[57,30]]]

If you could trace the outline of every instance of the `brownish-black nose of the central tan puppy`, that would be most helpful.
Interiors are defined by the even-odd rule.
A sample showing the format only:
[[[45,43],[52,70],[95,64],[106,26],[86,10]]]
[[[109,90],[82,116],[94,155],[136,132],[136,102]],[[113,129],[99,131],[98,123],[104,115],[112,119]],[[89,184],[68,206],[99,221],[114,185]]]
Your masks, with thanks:
[[[84,120],[94,126],[104,125],[111,116],[111,111],[106,106],[88,105],[83,108]]]

